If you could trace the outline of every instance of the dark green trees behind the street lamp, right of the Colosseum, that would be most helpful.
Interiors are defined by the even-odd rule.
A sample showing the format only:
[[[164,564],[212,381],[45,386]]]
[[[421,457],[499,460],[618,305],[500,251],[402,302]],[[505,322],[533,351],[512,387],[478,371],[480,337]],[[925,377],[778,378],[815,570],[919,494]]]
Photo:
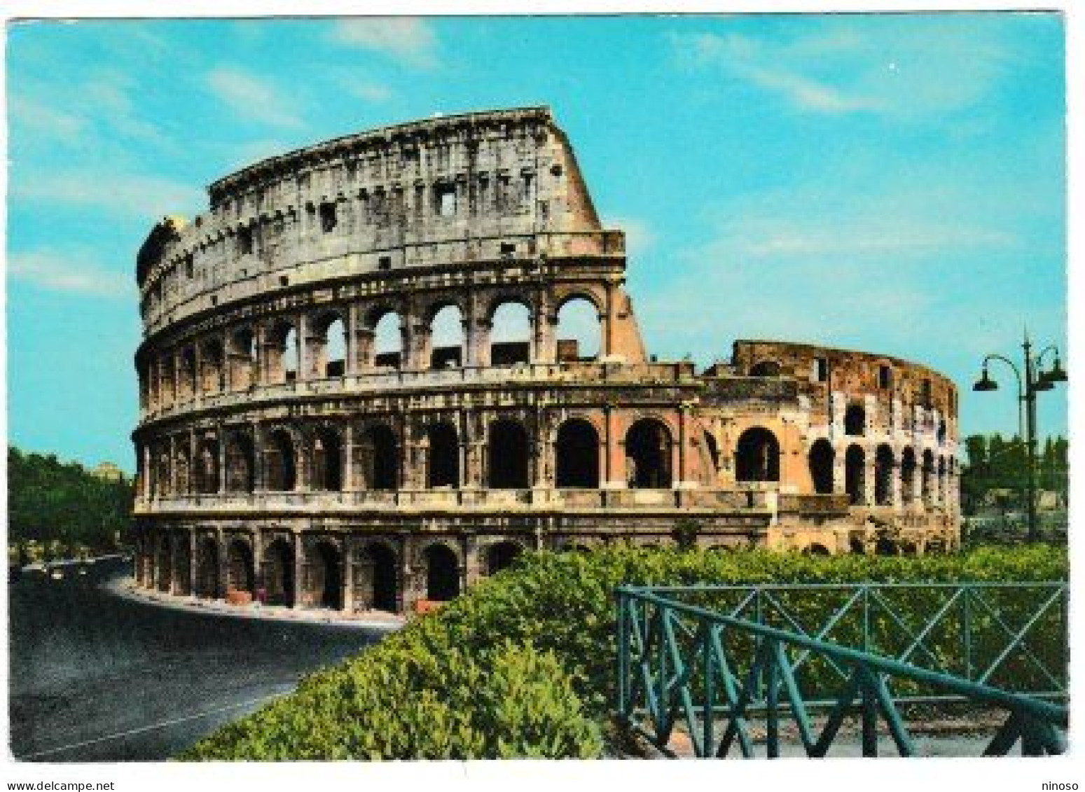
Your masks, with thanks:
[[[961,506],[971,512],[992,489],[1023,493],[1025,447],[1017,435],[972,435],[965,439],[966,462],[961,471]],[[1065,437],[1048,437],[1036,449],[1036,487],[1059,493],[1069,489],[1070,444]]]

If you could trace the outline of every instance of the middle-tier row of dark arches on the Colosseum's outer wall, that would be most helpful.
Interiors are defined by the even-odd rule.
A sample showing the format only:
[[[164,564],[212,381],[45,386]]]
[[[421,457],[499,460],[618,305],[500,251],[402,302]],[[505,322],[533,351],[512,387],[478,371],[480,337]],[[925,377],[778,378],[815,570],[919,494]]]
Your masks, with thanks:
[[[173,454],[159,448],[149,482],[150,495],[400,488],[406,455],[388,424],[370,424],[360,432],[329,425],[306,432],[277,427],[260,437],[257,445],[252,433],[232,431],[221,438],[200,438],[194,450],[183,442]],[[553,485],[598,488],[602,447],[596,426],[586,419],[570,418],[558,426],[554,437]],[[629,486],[669,488],[674,443],[662,421],[643,418],[634,422],[625,435]],[[467,445],[449,421],[426,425],[419,460],[423,485],[434,489],[464,486]],[[512,418],[490,421],[484,449],[484,486],[532,486],[536,450],[523,422]]]

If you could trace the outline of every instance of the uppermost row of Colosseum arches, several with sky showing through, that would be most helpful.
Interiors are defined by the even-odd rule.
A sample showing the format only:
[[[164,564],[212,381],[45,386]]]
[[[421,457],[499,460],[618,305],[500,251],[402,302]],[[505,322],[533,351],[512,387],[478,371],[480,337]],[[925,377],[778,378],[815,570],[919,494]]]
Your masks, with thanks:
[[[278,317],[141,363],[141,405],[156,409],[197,395],[336,378],[355,370],[593,360],[602,350],[602,316],[599,301],[585,292],[565,296],[545,316],[525,297],[498,297],[474,325],[456,301],[438,301],[419,318],[395,303],[378,304],[360,315],[343,307]],[[541,348],[537,336],[550,335],[553,348]]]

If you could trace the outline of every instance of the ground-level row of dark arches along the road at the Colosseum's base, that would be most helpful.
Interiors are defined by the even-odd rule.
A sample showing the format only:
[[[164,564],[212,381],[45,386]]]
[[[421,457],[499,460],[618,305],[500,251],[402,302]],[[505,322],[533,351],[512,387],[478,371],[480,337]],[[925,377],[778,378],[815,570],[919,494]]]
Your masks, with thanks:
[[[523,550],[523,545],[513,540],[490,544],[482,551],[483,574],[497,574]],[[419,560],[421,572],[416,583],[425,599],[446,601],[459,596],[464,567],[448,544],[427,544]],[[411,582],[401,574],[399,558],[390,544],[368,542],[355,557],[355,565],[365,566],[367,574],[352,580],[344,551],[331,539],[303,544],[278,537],[265,545],[256,558],[247,538],[232,538],[224,549],[222,542],[212,536],[190,546],[187,536],[164,535],[153,552],[141,554],[138,574],[144,588],[191,593],[199,599],[226,599],[245,592],[267,605],[339,611],[347,606],[349,593],[367,610],[401,610],[404,590]]]

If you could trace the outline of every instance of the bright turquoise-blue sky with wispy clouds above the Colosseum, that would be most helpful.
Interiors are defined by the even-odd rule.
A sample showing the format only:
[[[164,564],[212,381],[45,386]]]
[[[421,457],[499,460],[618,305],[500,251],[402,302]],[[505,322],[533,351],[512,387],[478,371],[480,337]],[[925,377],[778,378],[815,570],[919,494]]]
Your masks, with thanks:
[[[10,440],[131,470],[135,254],[263,156],[548,104],[630,242],[651,352],[737,337],[928,362],[1016,431],[1022,329],[1065,343],[1057,14],[30,23],[8,30]],[[1075,372],[1071,371],[1071,376]],[[1041,400],[1065,432],[1065,391]]]

